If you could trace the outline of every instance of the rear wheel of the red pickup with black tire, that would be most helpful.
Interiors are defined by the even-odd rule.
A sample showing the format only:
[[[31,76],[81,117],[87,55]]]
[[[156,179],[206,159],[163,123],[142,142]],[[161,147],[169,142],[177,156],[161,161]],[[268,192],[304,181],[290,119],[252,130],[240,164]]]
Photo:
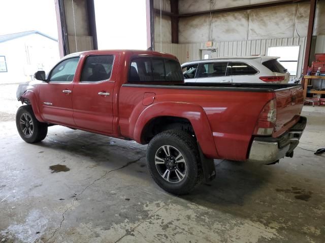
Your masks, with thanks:
[[[169,154],[171,156],[166,156],[167,150],[170,150]],[[180,158],[178,158],[178,161],[183,160],[183,157],[184,162],[175,163],[176,157],[179,155],[178,152],[182,155]],[[158,156],[158,159],[156,158],[156,155]],[[164,162],[160,157],[164,157]],[[173,159],[173,163],[171,163],[171,160],[168,161],[168,158]],[[196,140],[191,135],[183,131],[168,130],[157,134],[150,141],[147,148],[147,165],[151,177],[158,184],[158,186],[176,195],[188,194],[203,179]],[[181,166],[182,168],[179,168],[178,166]],[[179,169],[179,171],[181,171],[183,174],[172,171],[173,168],[176,168],[174,170]],[[167,170],[170,172],[167,172]],[[165,173],[163,173],[164,171]],[[183,177],[183,175],[185,176]]]

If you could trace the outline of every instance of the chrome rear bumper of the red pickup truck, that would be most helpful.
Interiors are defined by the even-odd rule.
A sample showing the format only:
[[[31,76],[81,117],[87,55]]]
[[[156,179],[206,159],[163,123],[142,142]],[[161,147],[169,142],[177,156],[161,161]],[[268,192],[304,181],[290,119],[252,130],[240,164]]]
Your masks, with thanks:
[[[249,151],[248,160],[261,164],[270,164],[284,156],[292,156],[307,124],[307,118],[300,117],[289,131],[278,138],[255,137]]]

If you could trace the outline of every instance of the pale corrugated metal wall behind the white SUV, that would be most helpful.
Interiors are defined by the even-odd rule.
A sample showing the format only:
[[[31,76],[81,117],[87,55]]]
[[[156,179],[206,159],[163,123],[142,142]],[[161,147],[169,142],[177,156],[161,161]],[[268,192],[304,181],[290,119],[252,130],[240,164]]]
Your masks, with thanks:
[[[155,44],[156,51],[162,51],[175,55],[180,63],[201,59],[201,50],[206,49],[205,43],[193,44]],[[304,53],[306,48],[306,37],[277,38],[277,39],[255,39],[251,41],[215,42],[212,48],[217,50],[217,57],[224,56],[250,56],[267,55],[269,47],[300,46],[298,73],[300,76]],[[188,53],[188,54],[187,54]],[[188,58],[187,58],[188,55]]]

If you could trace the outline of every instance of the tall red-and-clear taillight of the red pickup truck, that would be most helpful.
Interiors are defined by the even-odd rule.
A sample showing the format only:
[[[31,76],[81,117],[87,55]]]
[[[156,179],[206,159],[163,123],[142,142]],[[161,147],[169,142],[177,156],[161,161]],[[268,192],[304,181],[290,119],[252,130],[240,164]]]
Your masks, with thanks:
[[[254,129],[254,135],[271,135],[276,123],[276,99],[270,100],[262,109]]]

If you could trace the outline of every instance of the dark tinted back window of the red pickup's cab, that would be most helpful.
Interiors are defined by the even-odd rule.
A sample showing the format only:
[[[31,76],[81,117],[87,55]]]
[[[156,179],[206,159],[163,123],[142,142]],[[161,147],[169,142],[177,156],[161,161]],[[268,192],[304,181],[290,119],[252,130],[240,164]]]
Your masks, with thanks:
[[[179,62],[165,58],[135,58],[131,61],[129,82],[181,82],[183,73]]]

